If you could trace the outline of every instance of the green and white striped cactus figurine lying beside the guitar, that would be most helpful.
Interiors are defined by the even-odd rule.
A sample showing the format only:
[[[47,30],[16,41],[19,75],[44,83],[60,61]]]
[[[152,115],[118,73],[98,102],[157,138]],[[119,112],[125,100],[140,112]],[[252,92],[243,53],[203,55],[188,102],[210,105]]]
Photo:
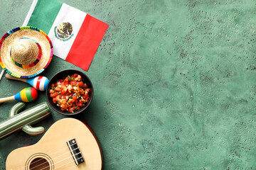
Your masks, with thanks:
[[[32,128],[31,125],[38,123],[50,115],[50,109],[46,102],[40,103],[26,111],[18,113],[26,106],[26,103],[18,102],[11,108],[9,118],[0,123],[0,140],[12,133],[23,130],[28,135],[40,135],[44,132],[43,127]]]

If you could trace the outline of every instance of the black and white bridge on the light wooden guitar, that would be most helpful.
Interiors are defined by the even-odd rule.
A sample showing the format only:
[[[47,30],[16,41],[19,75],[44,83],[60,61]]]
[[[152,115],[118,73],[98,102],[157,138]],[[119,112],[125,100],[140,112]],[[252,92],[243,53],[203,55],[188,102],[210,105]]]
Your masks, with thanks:
[[[81,164],[82,162],[85,162],[75,139],[68,141],[67,144],[73,156],[73,159],[75,160],[75,164],[78,165]]]

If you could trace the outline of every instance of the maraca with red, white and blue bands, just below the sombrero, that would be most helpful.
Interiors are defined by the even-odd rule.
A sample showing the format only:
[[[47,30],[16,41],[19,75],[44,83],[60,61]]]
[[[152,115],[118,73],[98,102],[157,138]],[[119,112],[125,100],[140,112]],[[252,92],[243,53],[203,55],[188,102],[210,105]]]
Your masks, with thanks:
[[[10,74],[6,74],[6,78],[23,81],[25,83],[30,84],[31,86],[33,86],[33,88],[40,90],[40,91],[45,91],[47,88],[47,85],[49,83],[49,79],[47,79],[46,77],[41,77],[41,76],[34,77],[31,79],[21,79],[21,78],[17,78],[17,77],[12,77]]]

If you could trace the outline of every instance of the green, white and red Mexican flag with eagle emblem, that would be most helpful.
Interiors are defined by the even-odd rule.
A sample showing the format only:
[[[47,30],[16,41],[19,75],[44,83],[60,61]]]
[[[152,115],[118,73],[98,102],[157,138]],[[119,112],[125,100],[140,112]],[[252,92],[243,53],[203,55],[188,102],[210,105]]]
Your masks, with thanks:
[[[34,0],[23,26],[45,32],[53,55],[87,71],[107,30],[107,23],[58,0]]]

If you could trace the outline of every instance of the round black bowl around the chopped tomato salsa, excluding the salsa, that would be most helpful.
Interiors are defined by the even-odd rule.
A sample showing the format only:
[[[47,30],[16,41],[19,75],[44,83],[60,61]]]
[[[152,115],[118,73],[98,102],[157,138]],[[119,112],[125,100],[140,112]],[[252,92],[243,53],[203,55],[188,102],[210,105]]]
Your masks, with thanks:
[[[78,111],[74,111],[73,113],[70,113],[68,111],[61,111],[60,106],[57,106],[56,103],[53,103],[53,98],[50,97],[50,87],[52,84],[55,84],[59,79],[63,79],[63,77],[68,77],[68,75],[73,75],[73,74],[80,74],[80,76],[82,77],[82,82],[86,83],[88,88],[90,88],[90,92],[89,92],[89,99],[87,101],[87,103],[85,103],[85,106],[82,106],[82,108],[80,108]],[[50,106],[53,108],[54,111],[63,114],[63,115],[76,115],[78,113],[81,113],[82,111],[85,111],[85,109],[90,105],[90,103],[92,102],[92,97],[93,97],[93,86],[92,86],[92,82],[90,81],[89,77],[87,77],[85,74],[83,74],[82,72],[75,70],[75,69],[65,69],[63,71],[58,72],[57,74],[55,74],[49,81],[49,84],[47,86],[46,89],[46,96],[48,99],[48,103],[50,104]]]

